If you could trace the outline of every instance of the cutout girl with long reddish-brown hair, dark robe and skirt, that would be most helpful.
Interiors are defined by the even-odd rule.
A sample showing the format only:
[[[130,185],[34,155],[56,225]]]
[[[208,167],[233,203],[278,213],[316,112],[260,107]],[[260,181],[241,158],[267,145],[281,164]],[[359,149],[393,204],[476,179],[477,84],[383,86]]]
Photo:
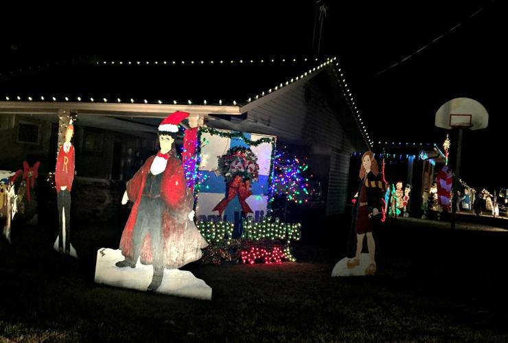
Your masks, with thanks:
[[[365,270],[365,275],[376,273],[376,243],[372,234],[372,220],[382,214],[382,198],[386,190],[386,184],[379,172],[378,162],[371,151],[362,156],[360,166],[360,185],[358,200],[356,201],[356,255],[354,259],[347,261],[347,268],[355,268],[360,265],[363,240],[367,235],[367,248],[371,263]]]

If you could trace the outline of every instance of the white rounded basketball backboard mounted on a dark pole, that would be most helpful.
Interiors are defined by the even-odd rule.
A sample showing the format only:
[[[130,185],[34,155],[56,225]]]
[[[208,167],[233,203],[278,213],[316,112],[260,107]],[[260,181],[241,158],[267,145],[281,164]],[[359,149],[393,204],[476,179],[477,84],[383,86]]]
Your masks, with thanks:
[[[489,114],[482,104],[468,97],[457,97],[446,102],[437,110],[435,125],[438,128],[487,128]]]

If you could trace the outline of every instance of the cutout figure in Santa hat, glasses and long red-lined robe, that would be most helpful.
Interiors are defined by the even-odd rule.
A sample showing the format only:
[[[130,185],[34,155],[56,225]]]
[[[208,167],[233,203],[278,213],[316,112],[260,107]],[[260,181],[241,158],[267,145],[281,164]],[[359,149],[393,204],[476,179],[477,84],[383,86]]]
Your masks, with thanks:
[[[183,165],[176,156],[174,137],[178,123],[189,113],[176,111],[161,122],[161,150],[150,156],[127,182],[122,204],[134,202],[120,241],[124,261],[118,268],[135,268],[138,258],[153,265],[154,292],[163,281],[164,268],[174,269],[196,261],[207,242],[192,220],[194,198],[187,187]]]

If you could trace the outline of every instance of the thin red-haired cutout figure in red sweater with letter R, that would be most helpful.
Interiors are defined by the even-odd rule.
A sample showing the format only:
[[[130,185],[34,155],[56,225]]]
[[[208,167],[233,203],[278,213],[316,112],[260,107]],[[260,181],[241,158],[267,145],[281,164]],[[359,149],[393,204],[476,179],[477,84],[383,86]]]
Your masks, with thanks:
[[[56,156],[55,185],[58,207],[58,252],[71,254],[71,189],[74,180],[74,147],[71,143],[74,134],[72,123],[65,131],[65,143]],[[65,241],[64,241],[65,237]]]

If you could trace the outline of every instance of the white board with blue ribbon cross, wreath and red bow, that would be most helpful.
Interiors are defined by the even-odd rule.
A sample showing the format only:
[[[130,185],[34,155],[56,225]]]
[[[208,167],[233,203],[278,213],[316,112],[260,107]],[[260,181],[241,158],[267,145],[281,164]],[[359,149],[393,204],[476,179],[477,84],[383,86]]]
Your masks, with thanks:
[[[198,221],[254,222],[266,215],[275,137],[202,128],[200,132]]]

